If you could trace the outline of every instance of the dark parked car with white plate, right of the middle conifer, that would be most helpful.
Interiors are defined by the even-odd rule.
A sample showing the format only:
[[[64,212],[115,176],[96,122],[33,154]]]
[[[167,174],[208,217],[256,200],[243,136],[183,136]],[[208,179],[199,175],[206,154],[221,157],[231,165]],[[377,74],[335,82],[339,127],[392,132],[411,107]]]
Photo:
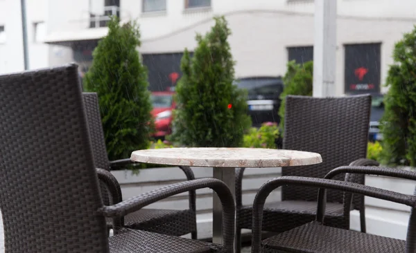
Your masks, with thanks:
[[[264,122],[280,122],[277,113],[283,91],[281,77],[245,77],[237,79],[236,85],[248,90],[247,103],[253,127],[260,127]]]

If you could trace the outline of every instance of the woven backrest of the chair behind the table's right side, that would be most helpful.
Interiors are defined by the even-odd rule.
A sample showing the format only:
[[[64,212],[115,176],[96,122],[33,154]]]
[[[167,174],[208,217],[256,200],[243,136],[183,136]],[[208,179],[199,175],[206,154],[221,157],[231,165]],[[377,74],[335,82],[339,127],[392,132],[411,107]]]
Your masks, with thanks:
[[[284,149],[320,153],[318,165],[284,167],[283,176],[324,178],[336,167],[367,156],[370,95],[348,97],[286,97]],[[344,180],[339,175],[338,180]],[[284,200],[316,201],[317,189],[293,185],[282,187]],[[343,202],[343,193],[328,191],[328,202]]]

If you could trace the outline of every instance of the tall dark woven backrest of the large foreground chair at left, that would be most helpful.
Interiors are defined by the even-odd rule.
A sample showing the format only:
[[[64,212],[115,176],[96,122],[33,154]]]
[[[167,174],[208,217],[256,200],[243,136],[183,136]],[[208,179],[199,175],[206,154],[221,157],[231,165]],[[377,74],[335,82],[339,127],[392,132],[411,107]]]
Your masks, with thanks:
[[[6,252],[108,252],[77,69],[0,76]]]

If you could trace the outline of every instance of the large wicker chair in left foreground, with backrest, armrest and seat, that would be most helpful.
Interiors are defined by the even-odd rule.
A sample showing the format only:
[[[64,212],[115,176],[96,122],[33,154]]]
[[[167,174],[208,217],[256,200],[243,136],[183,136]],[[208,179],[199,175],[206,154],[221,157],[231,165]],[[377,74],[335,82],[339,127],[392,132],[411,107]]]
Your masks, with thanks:
[[[234,200],[212,178],[168,185],[103,205],[75,64],[0,76],[0,208],[6,252],[233,252]],[[168,196],[209,187],[223,204],[223,245],[116,227]]]

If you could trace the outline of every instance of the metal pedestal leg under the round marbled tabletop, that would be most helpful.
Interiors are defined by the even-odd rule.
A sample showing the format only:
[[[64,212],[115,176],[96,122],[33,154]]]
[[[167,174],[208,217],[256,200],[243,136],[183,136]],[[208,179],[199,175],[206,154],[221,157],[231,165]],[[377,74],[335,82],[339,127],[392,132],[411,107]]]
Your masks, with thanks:
[[[232,192],[232,196],[236,196],[236,171],[235,168],[214,167],[213,178],[217,178],[225,182]],[[213,217],[212,217],[212,242],[223,243],[223,216],[220,198],[216,194],[213,196]]]

